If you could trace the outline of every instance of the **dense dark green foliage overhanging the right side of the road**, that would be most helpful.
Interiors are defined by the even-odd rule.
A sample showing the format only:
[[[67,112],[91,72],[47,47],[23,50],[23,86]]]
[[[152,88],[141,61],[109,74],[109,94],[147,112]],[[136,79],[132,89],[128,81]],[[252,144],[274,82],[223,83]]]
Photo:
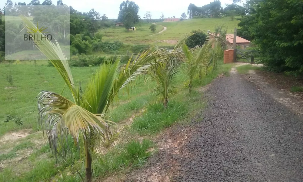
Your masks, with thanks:
[[[248,30],[258,46],[261,62],[272,71],[303,75],[303,2],[249,0],[247,3],[250,14],[243,17],[239,26]]]

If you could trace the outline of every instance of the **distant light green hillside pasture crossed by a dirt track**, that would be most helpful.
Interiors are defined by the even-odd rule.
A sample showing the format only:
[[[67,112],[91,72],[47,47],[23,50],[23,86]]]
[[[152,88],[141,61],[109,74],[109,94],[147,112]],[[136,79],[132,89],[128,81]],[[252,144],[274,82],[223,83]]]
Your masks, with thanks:
[[[203,32],[210,30],[214,32],[216,25],[224,25],[228,33],[233,33],[234,28],[238,28],[238,20],[231,21],[229,17],[225,18],[203,18],[203,19],[188,19],[180,22],[158,22],[157,32],[167,29],[161,34],[155,34],[149,30],[151,23],[144,23],[138,26],[137,31],[126,31],[124,27],[113,27],[100,30],[103,33],[102,40],[113,42],[119,40],[127,44],[153,44],[171,45],[166,41],[178,40],[181,35],[191,32],[192,30],[200,29]],[[162,26],[163,25],[163,26]]]

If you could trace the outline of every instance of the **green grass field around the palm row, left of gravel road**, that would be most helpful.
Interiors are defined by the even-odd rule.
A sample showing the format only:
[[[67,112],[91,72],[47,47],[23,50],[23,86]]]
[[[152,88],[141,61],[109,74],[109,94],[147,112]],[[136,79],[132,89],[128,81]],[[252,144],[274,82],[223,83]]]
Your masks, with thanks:
[[[209,72],[200,80],[195,79],[195,87],[203,86],[211,82],[218,74],[228,72],[231,64],[221,65],[218,70]],[[97,66],[72,67],[76,83],[81,82],[84,87],[88,78]],[[181,68],[180,68],[181,69]],[[136,167],[142,166],[152,155],[156,148],[152,136],[165,127],[171,126],[177,121],[187,120],[201,110],[203,106],[201,93],[193,90],[188,94],[187,79],[183,69],[176,79],[178,94],[171,97],[168,109],[164,110],[161,99],[155,97],[151,90],[153,82],[145,83],[144,77],[136,80],[135,86],[129,93],[122,90],[108,115],[113,121],[123,126],[129,122],[133,123],[128,129],[124,129],[123,138],[115,147],[105,150],[105,155],[98,155],[93,161],[94,177],[104,178],[115,173],[125,173]],[[6,81],[6,76],[13,77],[12,85]],[[76,150],[71,140],[71,154],[66,160],[59,159],[50,152],[46,136],[37,132],[37,104],[35,97],[41,90],[49,90],[61,93],[64,82],[54,67],[45,66],[43,62],[32,64],[32,62],[1,63],[0,76],[0,181],[81,181],[79,174],[83,176],[84,167],[80,160],[81,154]],[[70,98],[66,89],[63,96]],[[24,126],[17,126],[14,122],[3,122],[7,115],[19,116]],[[166,118],[166,119],[164,119]],[[12,132],[27,133],[21,138],[5,140],[12,136]],[[147,137],[144,140],[138,138]],[[78,173],[78,172],[79,173]]]

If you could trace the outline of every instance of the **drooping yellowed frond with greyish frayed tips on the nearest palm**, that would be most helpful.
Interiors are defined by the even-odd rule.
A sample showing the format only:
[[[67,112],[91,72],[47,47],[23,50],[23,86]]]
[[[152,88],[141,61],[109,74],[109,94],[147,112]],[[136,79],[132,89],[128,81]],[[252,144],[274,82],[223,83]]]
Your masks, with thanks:
[[[85,140],[95,136],[108,137],[108,123],[104,119],[59,94],[39,93],[38,111],[39,125],[46,129],[49,145],[56,155],[67,152],[62,143],[68,135],[76,143],[81,134]]]

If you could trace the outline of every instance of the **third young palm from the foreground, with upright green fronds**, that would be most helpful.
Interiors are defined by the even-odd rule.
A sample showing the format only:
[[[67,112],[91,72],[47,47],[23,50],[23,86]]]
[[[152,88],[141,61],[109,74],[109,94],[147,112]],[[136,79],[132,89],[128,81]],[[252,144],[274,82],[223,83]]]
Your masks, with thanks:
[[[207,67],[210,60],[210,49],[212,41],[206,42],[202,47],[196,46],[189,49],[186,44],[183,44],[183,54],[185,56],[185,64],[187,68],[187,74],[189,79],[189,92],[192,89],[192,81],[196,74],[202,74],[201,72]],[[201,78],[201,77],[200,77]]]

